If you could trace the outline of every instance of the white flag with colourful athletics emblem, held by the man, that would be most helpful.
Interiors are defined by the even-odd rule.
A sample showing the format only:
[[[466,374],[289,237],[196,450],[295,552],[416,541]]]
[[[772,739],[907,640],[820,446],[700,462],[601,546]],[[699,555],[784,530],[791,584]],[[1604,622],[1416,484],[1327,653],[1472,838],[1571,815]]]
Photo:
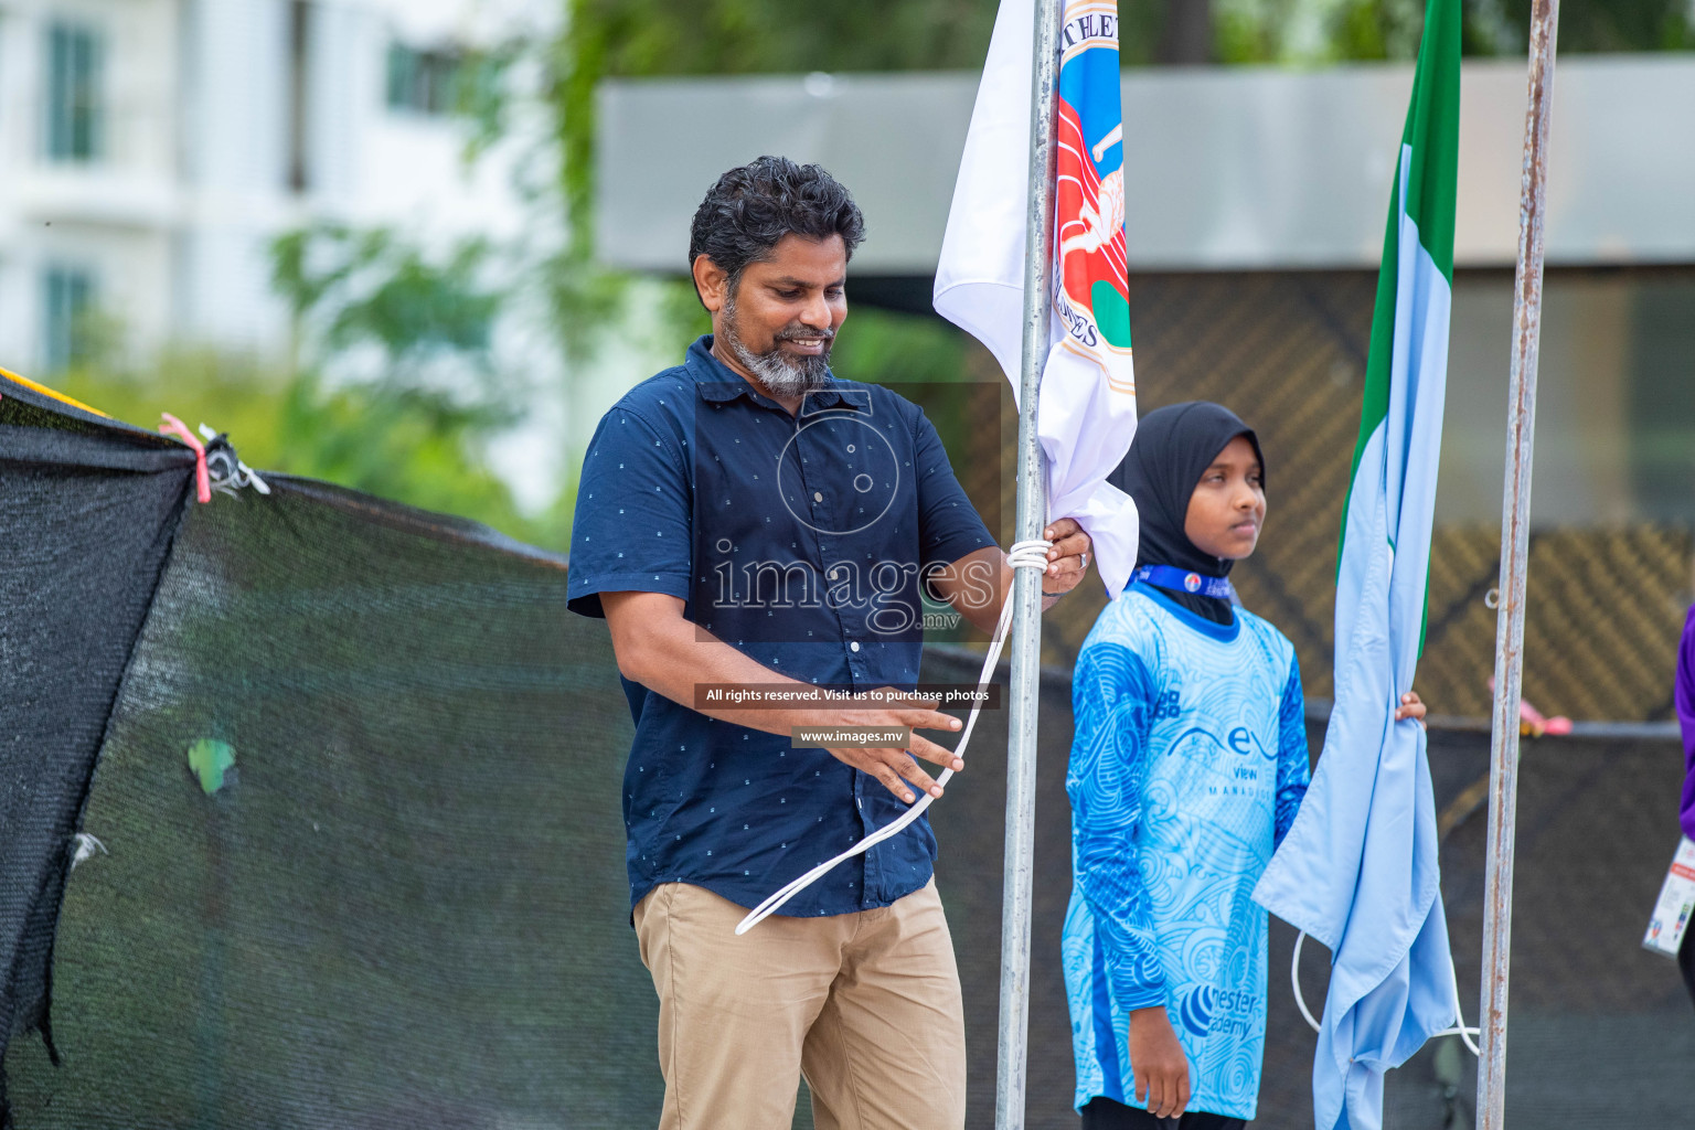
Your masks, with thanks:
[[[1124,258],[1124,117],[1115,0],[1068,0],[1059,37],[1053,324],[1037,434],[1049,518],[1076,518],[1117,598],[1136,568],[1136,505],[1105,479],[1136,434]],[[1019,393],[1036,2],[995,17],[936,268],[936,312],[988,346]]]

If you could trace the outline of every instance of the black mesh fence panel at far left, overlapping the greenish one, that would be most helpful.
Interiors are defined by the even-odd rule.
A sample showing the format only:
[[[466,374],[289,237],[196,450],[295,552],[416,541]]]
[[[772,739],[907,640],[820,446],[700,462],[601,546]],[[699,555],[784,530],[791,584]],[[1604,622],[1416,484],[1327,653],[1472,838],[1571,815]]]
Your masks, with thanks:
[[[158,437],[0,395],[0,1050],[51,1039],[76,815],[190,466]]]

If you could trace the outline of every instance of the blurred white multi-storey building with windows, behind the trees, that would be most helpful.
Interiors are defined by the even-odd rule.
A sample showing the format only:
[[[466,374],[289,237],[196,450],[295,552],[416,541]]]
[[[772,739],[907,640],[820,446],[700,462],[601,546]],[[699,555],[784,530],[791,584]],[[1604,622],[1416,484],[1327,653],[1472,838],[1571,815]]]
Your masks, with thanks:
[[[98,310],[139,351],[286,347],[270,241],[312,219],[522,230],[514,147],[466,164],[480,47],[551,0],[0,2],[0,364]]]

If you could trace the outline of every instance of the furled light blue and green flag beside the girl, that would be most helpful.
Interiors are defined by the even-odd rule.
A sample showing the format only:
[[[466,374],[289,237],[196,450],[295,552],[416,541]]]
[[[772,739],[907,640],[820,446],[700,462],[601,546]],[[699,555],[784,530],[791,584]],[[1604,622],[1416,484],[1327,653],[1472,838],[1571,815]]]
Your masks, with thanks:
[[[1429,0],[1378,274],[1336,581],[1336,708],[1254,900],[1331,949],[1319,1130],[1378,1130],[1383,1074],[1454,1023],[1424,728],[1395,722],[1424,642],[1448,381],[1459,0]]]

